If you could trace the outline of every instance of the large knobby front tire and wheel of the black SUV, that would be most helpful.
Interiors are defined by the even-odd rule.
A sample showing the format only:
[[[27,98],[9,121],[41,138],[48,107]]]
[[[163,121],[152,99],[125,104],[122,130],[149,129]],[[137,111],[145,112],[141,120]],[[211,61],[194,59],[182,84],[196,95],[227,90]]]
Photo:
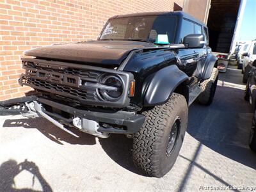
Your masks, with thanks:
[[[188,104],[173,93],[168,102],[143,112],[145,122],[134,134],[134,164],[145,175],[163,177],[179,155],[188,125]]]

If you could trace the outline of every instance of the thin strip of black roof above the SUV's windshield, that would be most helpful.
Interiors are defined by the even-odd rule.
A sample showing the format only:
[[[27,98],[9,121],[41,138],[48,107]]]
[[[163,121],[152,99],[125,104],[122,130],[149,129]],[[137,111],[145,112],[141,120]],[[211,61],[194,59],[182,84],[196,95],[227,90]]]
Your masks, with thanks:
[[[203,22],[200,20],[196,19],[195,17],[189,15],[188,13],[185,12],[143,12],[143,13],[131,13],[131,14],[126,14],[126,15],[115,15],[109,19],[116,19],[116,18],[125,18],[125,17],[140,17],[140,16],[159,16],[159,15],[173,15],[177,17],[184,17],[189,20],[193,20],[197,22],[198,24],[202,24],[202,26],[205,26]]]

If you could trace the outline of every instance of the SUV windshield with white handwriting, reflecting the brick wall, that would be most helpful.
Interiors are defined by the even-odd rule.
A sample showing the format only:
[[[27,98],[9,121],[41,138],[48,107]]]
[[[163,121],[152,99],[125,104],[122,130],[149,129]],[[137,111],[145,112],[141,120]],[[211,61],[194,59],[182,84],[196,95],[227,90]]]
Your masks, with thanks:
[[[167,35],[173,43],[176,17],[170,15],[110,19],[99,40],[145,40],[155,42],[157,35]]]

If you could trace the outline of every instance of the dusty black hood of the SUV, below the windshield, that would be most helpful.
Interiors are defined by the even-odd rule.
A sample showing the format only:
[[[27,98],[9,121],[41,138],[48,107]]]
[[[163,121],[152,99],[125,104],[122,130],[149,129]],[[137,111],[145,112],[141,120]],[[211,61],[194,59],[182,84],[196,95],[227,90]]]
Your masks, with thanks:
[[[120,65],[133,49],[143,49],[145,47],[156,47],[156,45],[147,42],[101,40],[38,47],[24,52],[24,54],[54,60]]]

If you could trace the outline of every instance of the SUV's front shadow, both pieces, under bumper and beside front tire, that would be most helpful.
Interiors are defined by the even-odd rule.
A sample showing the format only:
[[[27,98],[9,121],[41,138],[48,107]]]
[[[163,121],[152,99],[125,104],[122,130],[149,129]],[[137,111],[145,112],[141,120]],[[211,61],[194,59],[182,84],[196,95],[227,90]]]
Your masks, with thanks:
[[[37,129],[49,140],[63,145],[61,141],[73,145],[95,145],[96,138],[85,132],[71,128],[71,131],[76,133],[79,138],[76,138],[67,132],[52,125],[44,118],[34,119],[8,119],[5,120],[3,127],[24,127],[25,129]],[[132,140],[122,134],[111,134],[109,138],[99,138],[99,143],[108,156],[120,166],[136,174],[141,173],[136,169],[132,162]]]

